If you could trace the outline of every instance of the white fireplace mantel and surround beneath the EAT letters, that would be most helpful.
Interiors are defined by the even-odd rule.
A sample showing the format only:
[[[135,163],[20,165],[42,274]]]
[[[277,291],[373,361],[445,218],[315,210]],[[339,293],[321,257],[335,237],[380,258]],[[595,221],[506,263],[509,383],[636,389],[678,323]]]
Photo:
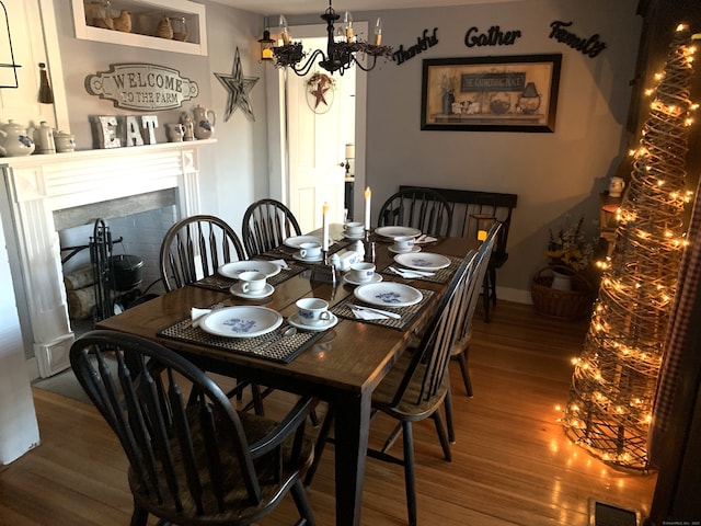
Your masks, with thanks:
[[[197,214],[198,148],[214,142],[216,139],[0,159],[14,238],[9,243],[10,248],[16,243],[20,266],[13,279],[23,282],[20,287],[15,283],[15,294],[23,304],[20,318],[23,332],[32,339],[39,376],[70,366],[68,352],[74,340],[54,213],[176,188],[179,216]],[[23,319],[23,311],[28,320]]]

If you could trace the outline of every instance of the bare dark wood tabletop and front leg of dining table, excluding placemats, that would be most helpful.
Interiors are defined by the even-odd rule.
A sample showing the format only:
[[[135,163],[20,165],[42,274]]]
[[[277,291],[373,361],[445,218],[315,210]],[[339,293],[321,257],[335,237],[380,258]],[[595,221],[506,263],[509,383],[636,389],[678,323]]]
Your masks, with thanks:
[[[320,232],[311,232],[314,233]],[[334,240],[330,251],[343,251],[353,243],[343,238],[340,225],[331,225],[330,237]],[[389,250],[391,241],[376,235],[371,239],[376,243],[377,272],[382,272],[394,263],[394,253]],[[475,245],[476,241],[463,238],[439,238],[423,244],[422,250],[459,261]],[[300,264],[294,259],[292,249],[287,248],[256,259],[276,259],[280,255],[290,264]],[[430,299],[425,308],[406,327],[398,330],[350,317],[338,317],[335,327],[315,333],[317,339],[289,363],[163,335],[164,329],[179,322],[188,324],[185,320],[189,319],[193,307],[263,305],[283,317],[289,317],[297,310],[295,302],[302,297],[323,298],[333,308],[353,296],[354,287],[345,284],[340,276],[335,284],[318,281],[321,274],[313,271],[313,264],[308,266],[276,284],[275,291],[267,298],[241,299],[223,287],[216,289],[187,285],[100,321],[96,327],[157,341],[182,353],[207,371],[292,393],[310,395],[334,404],[336,524],[359,525],[372,391],[405,350],[413,331],[425,322],[430,307],[445,291],[447,283],[406,281],[382,272],[383,281],[406,283],[427,294],[433,293],[428,294]]]

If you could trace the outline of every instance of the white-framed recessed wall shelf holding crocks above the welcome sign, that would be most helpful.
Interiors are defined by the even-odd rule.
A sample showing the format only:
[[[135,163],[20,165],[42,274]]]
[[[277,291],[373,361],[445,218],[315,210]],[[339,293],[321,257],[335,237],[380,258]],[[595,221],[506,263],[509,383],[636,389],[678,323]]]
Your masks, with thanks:
[[[162,52],[207,55],[207,21],[203,4],[189,0],[113,0],[110,5],[112,16],[117,16],[119,11],[125,9],[131,13],[133,32],[124,33],[89,25],[85,21],[85,2],[90,3],[90,0],[71,0],[71,2],[76,38]],[[180,42],[160,38],[152,34],[136,33],[136,31],[154,32],[158,20],[162,16],[184,18],[187,24],[187,41]]]

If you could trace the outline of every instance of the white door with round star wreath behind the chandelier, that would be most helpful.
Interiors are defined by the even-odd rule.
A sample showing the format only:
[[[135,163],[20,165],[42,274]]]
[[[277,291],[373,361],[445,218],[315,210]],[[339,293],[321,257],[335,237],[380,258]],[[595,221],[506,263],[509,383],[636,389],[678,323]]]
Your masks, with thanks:
[[[367,22],[356,25],[367,32]],[[294,26],[290,32],[295,39],[302,39],[308,54],[326,47],[325,25]],[[302,78],[291,70],[267,71],[271,195],[290,207],[302,231],[321,226],[323,203],[330,206],[330,220],[341,222],[347,198],[346,145],[355,150],[349,162],[354,186],[365,186],[365,72],[352,68],[332,76],[315,66]],[[314,73],[325,75],[333,83],[325,102],[310,96]],[[356,210],[361,194],[356,190],[350,197]]]

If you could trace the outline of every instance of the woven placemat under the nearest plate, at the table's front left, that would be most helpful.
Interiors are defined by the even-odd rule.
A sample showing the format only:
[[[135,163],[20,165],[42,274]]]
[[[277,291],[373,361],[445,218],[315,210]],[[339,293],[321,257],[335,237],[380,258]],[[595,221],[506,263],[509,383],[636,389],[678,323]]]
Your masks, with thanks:
[[[191,319],[186,318],[163,329],[158,335],[288,364],[324,334],[298,331],[291,336],[283,336],[288,327],[284,323],[275,331],[255,338],[223,338],[209,334],[199,327],[193,327]]]

